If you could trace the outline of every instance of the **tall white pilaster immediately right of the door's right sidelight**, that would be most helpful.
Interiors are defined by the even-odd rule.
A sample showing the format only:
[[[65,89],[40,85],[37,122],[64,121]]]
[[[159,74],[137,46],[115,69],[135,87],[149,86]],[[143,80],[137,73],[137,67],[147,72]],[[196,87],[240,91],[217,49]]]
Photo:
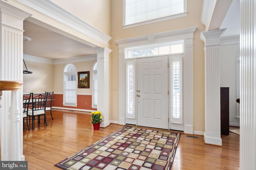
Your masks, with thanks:
[[[194,134],[193,38],[184,40],[184,133]]]

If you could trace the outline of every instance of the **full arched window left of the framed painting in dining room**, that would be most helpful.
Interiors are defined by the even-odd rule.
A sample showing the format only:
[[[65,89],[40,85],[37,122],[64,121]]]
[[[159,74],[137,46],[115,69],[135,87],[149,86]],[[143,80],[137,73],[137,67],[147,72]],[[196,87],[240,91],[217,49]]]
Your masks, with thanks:
[[[64,68],[63,106],[76,106],[76,66],[67,64]]]

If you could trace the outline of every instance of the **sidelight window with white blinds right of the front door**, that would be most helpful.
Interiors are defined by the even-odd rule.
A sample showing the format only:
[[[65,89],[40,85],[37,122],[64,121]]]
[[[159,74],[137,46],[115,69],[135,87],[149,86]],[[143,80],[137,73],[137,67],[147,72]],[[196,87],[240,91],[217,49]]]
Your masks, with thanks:
[[[182,124],[182,57],[170,57],[171,123]]]

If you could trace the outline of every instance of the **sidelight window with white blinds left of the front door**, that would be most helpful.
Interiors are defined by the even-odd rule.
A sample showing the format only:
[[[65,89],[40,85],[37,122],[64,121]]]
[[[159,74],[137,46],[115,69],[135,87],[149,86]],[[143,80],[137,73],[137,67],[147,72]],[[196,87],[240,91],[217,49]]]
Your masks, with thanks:
[[[126,61],[126,118],[135,118],[135,65],[136,60]]]

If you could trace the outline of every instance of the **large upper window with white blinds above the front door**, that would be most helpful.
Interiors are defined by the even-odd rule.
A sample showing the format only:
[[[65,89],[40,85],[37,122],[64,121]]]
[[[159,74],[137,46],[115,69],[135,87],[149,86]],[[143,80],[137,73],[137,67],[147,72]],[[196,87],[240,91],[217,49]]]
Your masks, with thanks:
[[[135,27],[186,16],[187,0],[124,0],[124,25]],[[135,25],[131,25],[135,24]],[[124,28],[129,28],[124,26]]]

